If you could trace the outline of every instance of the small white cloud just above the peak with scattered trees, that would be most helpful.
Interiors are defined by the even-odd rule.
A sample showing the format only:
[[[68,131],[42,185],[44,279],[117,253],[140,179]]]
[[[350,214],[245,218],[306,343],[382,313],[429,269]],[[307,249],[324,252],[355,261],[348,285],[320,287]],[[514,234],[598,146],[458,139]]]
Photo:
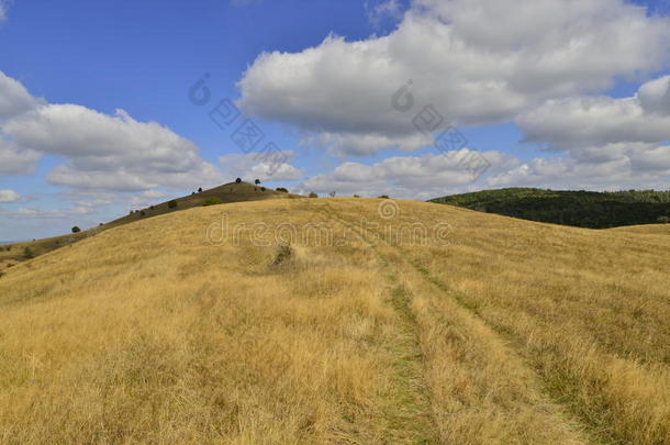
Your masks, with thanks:
[[[224,176],[228,178],[260,179],[267,181],[292,181],[302,178],[303,171],[289,164],[294,153],[281,152],[278,157],[267,157],[256,153],[221,156]]]

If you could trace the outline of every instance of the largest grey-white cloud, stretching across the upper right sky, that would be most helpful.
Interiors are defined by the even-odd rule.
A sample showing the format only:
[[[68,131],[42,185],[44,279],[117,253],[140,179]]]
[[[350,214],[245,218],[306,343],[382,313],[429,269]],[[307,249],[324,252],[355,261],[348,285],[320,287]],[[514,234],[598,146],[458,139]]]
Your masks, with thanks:
[[[389,35],[261,54],[238,82],[239,105],[372,153],[406,147],[424,105],[457,125],[512,120],[661,68],[669,51],[670,19],[623,0],[415,0]],[[399,112],[392,98],[409,79],[414,107]]]

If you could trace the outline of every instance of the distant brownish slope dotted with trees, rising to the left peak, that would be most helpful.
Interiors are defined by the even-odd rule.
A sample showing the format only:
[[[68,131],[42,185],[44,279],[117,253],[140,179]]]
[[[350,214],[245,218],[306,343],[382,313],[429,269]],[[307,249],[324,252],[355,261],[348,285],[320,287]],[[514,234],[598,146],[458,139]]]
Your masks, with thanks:
[[[23,243],[0,245],[0,268],[7,265],[14,265],[47,252],[60,247],[70,246],[74,243],[97,235],[109,229],[113,229],[131,222],[158,216],[166,213],[178,212],[181,210],[202,207],[205,203],[232,203],[244,201],[261,201],[266,199],[294,199],[302,198],[298,194],[284,193],[276,190],[266,189],[263,186],[255,186],[248,182],[231,182],[213,189],[203,190],[200,193],[189,194],[171,200],[175,207],[170,207],[170,201],[165,201],[146,209],[137,209],[133,213],[119,218],[105,224],[100,224],[79,233],[54,236],[51,238],[36,240]]]

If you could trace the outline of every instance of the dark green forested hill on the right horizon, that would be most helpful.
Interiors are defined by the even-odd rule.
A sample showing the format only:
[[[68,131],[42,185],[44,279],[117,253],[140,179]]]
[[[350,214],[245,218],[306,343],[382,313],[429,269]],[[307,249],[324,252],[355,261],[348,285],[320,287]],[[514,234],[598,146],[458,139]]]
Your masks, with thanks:
[[[524,220],[590,229],[657,224],[670,218],[670,191],[557,191],[509,188],[453,194],[429,202]]]

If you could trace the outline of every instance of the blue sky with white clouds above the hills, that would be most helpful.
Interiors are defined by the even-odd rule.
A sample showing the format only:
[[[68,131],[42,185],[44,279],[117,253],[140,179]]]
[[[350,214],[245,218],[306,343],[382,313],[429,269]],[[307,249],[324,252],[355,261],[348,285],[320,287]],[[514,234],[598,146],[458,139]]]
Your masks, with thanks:
[[[237,177],[670,189],[670,0],[0,0],[0,241]]]

